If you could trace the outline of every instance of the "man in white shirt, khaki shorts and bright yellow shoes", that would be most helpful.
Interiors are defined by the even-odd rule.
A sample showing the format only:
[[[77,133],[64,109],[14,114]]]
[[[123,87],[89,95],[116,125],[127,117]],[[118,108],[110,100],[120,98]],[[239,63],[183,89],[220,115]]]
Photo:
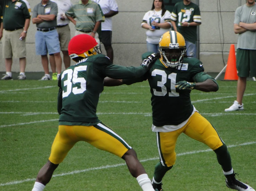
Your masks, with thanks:
[[[55,2],[58,6],[58,16],[57,16],[57,31],[59,34],[59,41],[60,41],[60,49],[63,53],[63,62],[65,65],[65,69],[70,67],[70,58],[69,58],[69,52],[68,52],[68,45],[69,41],[71,39],[70,36],[70,28],[69,28],[69,19],[65,16],[65,12],[72,7],[72,3],[70,0],[51,0],[52,2]],[[50,64],[52,64],[53,67],[55,66],[55,60],[54,56],[50,55]],[[57,80],[57,73],[52,74],[52,79]]]

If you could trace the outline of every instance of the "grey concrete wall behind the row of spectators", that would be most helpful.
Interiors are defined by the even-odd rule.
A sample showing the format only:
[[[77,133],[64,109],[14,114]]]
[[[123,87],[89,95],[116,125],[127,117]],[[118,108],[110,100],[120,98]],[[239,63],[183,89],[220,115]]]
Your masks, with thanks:
[[[76,2],[77,0],[71,0]],[[41,2],[28,0],[30,6]],[[152,7],[152,0],[116,0],[119,13],[113,17],[112,46],[114,64],[137,66],[141,62],[141,54],[147,51],[145,29],[141,28],[141,20]],[[237,43],[238,35],[233,32],[233,20],[236,8],[245,0],[192,0],[199,2],[202,24],[199,27],[200,60],[206,72],[219,72],[227,62],[230,44]],[[71,37],[74,25],[70,23]],[[41,57],[35,54],[36,26],[32,22],[27,33],[27,72],[43,71]],[[2,50],[2,46],[0,46]],[[102,46],[105,53],[104,46]],[[0,54],[0,71],[5,71],[4,59]],[[71,62],[72,63],[72,62]],[[64,64],[63,67],[64,69]],[[13,60],[12,71],[19,71],[18,59]]]

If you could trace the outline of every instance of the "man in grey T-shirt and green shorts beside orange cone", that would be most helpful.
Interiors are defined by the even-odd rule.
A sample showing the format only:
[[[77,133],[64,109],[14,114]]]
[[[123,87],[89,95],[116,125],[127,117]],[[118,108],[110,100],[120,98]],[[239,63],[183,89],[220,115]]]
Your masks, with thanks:
[[[256,4],[247,0],[235,13],[234,31],[238,34],[237,42],[237,100],[225,111],[244,110],[242,98],[245,93],[247,77],[256,76]]]

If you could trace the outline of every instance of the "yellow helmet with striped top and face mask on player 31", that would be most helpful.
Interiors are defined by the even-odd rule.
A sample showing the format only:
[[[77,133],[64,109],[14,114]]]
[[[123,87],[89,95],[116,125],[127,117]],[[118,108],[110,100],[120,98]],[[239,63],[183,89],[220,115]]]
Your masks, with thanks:
[[[183,62],[186,53],[185,39],[179,32],[165,32],[159,41],[161,61],[166,66],[175,68]]]

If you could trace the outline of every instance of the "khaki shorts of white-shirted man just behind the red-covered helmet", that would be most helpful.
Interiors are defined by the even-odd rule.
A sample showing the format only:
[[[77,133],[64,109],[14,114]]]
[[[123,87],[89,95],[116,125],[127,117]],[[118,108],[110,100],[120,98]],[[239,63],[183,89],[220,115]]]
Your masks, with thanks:
[[[65,27],[57,27],[57,31],[59,34],[61,51],[68,50],[69,41],[71,39],[69,25],[66,25]]]

